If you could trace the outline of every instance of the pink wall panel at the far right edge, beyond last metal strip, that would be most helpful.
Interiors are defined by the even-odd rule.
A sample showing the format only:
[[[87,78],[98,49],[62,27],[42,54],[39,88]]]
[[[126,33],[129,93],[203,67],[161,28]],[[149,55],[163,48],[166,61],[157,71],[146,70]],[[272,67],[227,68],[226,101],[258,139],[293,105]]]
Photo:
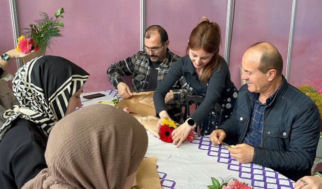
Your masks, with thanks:
[[[322,88],[322,1],[297,1],[289,81]]]

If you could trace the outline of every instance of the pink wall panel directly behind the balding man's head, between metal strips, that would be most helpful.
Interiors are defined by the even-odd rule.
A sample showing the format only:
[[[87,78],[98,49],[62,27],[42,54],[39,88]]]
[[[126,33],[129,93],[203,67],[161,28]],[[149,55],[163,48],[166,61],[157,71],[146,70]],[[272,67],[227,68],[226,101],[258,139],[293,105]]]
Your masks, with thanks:
[[[277,47],[285,62],[285,74],[292,1],[239,0],[235,6],[229,65],[234,84],[241,86],[239,68],[244,52],[259,41]]]

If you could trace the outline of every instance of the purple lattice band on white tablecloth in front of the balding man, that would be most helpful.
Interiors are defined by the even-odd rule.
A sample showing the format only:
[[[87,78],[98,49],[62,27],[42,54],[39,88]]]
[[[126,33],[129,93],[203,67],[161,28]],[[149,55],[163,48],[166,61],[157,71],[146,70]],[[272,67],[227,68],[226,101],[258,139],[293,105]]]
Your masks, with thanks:
[[[253,163],[241,164],[230,157],[229,151],[221,145],[212,146],[209,137],[203,136],[191,143],[198,144],[198,149],[208,151],[208,156],[217,158],[217,162],[227,164],[227,169],[237,171],[239,178],[249,179],[255,188],[293,188],[294,182],[276,171]],[[269,185],[268,185],[269,184]]]

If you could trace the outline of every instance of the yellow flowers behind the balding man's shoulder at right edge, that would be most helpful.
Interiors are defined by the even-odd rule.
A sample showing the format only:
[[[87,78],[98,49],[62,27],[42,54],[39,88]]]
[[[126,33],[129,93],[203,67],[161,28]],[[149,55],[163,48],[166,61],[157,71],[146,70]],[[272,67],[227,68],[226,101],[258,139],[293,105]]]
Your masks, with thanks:
[[[316,104],[321,117],[320,136],[322,136],[322,88],[316,91],[311,85],[302,85],[298,89]]]

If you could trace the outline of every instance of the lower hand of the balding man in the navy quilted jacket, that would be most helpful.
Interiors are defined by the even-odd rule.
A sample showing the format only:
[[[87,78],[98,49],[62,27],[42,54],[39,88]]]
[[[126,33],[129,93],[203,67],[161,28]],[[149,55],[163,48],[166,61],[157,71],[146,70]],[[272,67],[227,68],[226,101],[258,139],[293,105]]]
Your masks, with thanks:
[[[253,161],[254,147],[248,144],[237,144],[235,147],[228,147],[232,158],[235,158],[239,163],[250,163]]]

